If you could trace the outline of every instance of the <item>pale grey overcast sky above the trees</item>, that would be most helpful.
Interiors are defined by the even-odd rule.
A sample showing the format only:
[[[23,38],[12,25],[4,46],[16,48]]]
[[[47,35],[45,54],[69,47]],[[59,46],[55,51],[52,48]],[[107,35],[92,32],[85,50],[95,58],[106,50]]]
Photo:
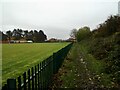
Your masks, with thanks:
[[[73,28],[92,29],[118,13],[119,0],[1,0],[0,30],[43,30],[48,38],[69,38]]]

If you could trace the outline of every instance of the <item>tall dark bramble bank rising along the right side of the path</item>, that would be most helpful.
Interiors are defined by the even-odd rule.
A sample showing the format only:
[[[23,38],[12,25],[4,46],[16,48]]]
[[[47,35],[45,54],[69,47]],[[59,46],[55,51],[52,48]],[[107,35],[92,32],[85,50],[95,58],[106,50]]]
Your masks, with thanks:
[[[90,53],[106,63],[105,72],[120,84],[120,17],[110,16],[92,31]]]

